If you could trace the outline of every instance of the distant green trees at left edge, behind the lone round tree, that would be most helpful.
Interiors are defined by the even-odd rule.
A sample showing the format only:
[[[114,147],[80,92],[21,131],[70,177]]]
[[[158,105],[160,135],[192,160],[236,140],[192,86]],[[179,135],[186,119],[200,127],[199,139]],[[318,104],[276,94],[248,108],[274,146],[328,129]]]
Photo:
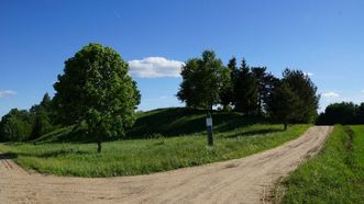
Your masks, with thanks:
[[[45,93],[40,104],[30,110],[12,109],[0,122],[0,140],[25,141],[56,128],[52,100]]]

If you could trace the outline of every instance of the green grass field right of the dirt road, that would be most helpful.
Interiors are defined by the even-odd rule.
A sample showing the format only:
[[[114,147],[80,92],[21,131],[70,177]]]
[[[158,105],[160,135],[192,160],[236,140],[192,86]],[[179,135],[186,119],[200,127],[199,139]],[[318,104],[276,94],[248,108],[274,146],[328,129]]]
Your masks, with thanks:
[[[364,126],[335,126],[322,151],[286,186],[283,203],[364,203]]]

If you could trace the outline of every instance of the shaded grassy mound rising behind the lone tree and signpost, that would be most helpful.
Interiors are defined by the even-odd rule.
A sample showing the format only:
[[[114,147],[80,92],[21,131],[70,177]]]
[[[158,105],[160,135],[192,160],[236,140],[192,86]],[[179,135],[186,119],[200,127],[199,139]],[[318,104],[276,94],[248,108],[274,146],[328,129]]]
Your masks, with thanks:
[[[213,112],[213,131],[223,133],[247,125],[264,123],[256,117],[246,117],[240,113]],[[128,139],[172,137],[201,134],[206,131],[206,111],[187,107],[159,109],[136,114],[134,126],[126,133]],[[74,126],[63,127],[43,135],[34,143],[88,143],[81,129]]]

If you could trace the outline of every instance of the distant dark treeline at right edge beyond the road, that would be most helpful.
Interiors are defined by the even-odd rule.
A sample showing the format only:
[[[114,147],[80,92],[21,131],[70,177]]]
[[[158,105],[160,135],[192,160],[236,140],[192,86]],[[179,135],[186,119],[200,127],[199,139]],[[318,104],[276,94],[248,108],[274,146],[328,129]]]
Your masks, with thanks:
[[[364,103],[333,103],[326,107],[316,122],[318,125],[364,124]]]

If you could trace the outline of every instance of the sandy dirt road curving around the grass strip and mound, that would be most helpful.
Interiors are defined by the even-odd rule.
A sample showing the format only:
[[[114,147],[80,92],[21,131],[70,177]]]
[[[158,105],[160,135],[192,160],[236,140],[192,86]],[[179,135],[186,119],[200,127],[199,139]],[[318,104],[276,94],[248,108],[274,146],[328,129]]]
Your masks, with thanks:
[[[318,152],[333,127],[315,126],[242,159],[150,175],[85,179],[29,173],[0,157],[0,203],[262,203],[273,183]]]

